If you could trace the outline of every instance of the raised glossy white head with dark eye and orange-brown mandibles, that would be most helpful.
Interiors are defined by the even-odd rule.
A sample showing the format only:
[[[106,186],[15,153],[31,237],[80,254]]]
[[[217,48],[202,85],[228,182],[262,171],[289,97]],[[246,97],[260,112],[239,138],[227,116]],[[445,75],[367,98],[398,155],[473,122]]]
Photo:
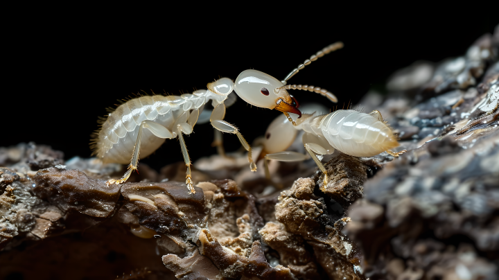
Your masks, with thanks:
[[[283,83],[276,78],[256,70],[245,70],[234,82],[234,91],[247,103],[257,107],[275,109],[299,115],[297,102],[286,89],[278,89]]]

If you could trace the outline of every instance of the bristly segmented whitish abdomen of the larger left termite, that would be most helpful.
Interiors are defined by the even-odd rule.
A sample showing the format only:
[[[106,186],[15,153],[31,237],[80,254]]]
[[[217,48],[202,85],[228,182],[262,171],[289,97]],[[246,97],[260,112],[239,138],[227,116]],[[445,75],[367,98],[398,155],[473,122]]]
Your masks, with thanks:
[[[175,122],[185,122],[191,110],[200,109],[208,100],[218,104],[226,98],[209,90],[198,90],[182,96],[155,95],[128,100],[110,113],[102,128],[93,135],[93,155],[105,163],[129,164],[142,121],[154,121],[175,132]],[[140,157],[152,154],[164,141],[149,130],[142,130]]]

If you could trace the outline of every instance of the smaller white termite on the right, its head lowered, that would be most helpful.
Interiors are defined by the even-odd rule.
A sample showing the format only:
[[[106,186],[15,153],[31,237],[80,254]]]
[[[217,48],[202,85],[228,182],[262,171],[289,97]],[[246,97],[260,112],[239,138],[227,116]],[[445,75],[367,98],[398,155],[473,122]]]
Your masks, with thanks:
[[[278,118],[279,119],[279,118]],[[277,119],[276,119],[277,121]],[[274,125],[275,126],[275,125]],[[277,127],[277,126],[276,126]],[[270,128],[270,127],[269,127]],[[326,168],[321,163],[323,155],[331,155],[335,150],[340,150],[347,155],[355,157],[372,157],[381,152],[399,157],[406,152],[392,152],[391,149],[399,146],[399,142],[392,130],[385,124],[380,112],[374,110],[369,114],[355,110],[338,110],[329,114],[302,114],[301,119],[297,119],[297,125],[277,127],[282,135],[291,134],[291,128],[304,130],[302,141],[306,151],[310,154],[319,169],[324,173],[324,186],[327,184]],[[282,131],[286,130],[286,132]],[[272,133],[272,130],[268,130]],[[284,151],[288,148],[289,139],[277,144],[274,139],[270,146],[271,154],[265,155],[265,168],[267,161],[274,159],[278,161],[301,161],[306,159],[305,155],[298,152]],[[265,145],[265,142],[264,142]],[[268,149],[266,148],[265,149]],[[281,148],[279,150],[279,148]],[[265,174],[270,179],[268,170]]]

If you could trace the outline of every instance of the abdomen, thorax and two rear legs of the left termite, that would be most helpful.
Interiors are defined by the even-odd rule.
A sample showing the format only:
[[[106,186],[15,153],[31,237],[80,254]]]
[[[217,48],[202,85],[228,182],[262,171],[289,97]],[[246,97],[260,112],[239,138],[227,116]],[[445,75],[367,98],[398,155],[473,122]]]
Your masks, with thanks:
[[[227,79],[228,80],[228,79]],[[232,91],[232,85],[223,87],[225,80],[211,83],[217,93],[210,90],[194,91],[182,96],[142,96],[129,100],[109,114],[102,128],[94,134],[94,154],[104,162],[126,164],[128,170],[119,180],[107,184],[121,184],[137,170],[139,154],[147,157],[161,146],[165,139],[179,137],[182,154],[187,166],[186,184],[194,193],[191,180],[191,161],[182,134],[191,134],[198,121],[199,111],[209,100],[216,107],[227,98],[222,89]],[[229,92],[230,93],[230,92]],[[216,111],[216,110],[215,110]],[[219,111],[213,112],[215,119],[223,119]],[[130,155],[132,159],[130,160]]]

